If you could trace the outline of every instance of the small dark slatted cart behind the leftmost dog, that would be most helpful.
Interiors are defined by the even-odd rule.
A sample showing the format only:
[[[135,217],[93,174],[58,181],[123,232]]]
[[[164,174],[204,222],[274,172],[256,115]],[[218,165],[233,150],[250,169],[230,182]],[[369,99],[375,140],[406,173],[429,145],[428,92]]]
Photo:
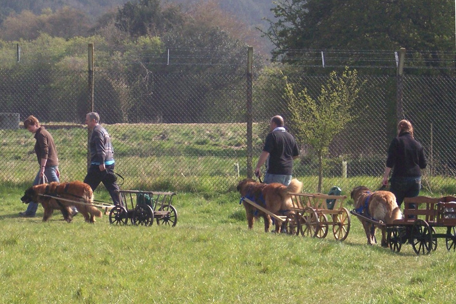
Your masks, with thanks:
[[[109,212],[111,224],[127,224],[130,219],[134,225],[157,224],[175,226],[177,210],[171,205],[173,192],[121,190],[119,196],[122,206],[113,206]],[[129,208],[129,205],[131,206]]]

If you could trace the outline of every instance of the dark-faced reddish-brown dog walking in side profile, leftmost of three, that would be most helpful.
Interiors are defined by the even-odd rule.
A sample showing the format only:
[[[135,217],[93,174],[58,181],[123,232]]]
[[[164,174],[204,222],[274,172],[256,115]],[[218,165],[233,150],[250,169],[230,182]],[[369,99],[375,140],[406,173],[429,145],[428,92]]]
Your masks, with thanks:
[[[101,217],[102,213],[93,206],[92,188],[81,181],[51,183],[32,186],[25,191],[21,201],[41,203],[44,208],[43,221],[47,221],[54,210],[60,210],[67,222],[72,220],[71,207],[78,208],[85,221],[95,222],[95,217]]]

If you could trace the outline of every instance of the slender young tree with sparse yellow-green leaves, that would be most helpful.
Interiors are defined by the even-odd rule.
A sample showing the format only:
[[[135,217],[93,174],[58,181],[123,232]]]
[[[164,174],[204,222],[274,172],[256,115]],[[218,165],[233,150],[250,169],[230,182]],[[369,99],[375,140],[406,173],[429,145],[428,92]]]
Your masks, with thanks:
[[[352,107],[361,86],[357,71],[348,68],[340,76],[335,71],[331,72],[315,99],[309,95],[307,88],[295,94],[293,85],[286,81],[285,97],[291,115],[290,128],[298,142],[315,149],[318,158],[318,192],[321,192],[324,156],[334,136],[355,118]]]

